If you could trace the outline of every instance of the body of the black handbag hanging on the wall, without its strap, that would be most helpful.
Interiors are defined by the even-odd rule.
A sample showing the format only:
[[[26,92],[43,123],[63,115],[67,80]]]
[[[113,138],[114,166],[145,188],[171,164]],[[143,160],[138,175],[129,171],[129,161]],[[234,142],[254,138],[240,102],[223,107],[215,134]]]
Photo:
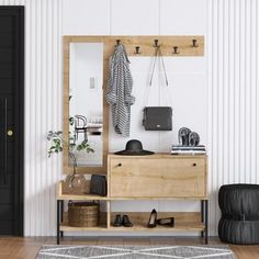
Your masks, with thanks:
[[[171,131],[172,109],[170,106],[146,106],[143,125],[146,131]]]

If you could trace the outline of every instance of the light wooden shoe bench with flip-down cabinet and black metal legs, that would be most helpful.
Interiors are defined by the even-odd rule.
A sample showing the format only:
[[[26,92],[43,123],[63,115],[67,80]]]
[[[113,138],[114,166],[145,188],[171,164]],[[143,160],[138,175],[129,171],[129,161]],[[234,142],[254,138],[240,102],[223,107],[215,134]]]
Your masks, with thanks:
[[[155,154],[150,156],[108,156],[108,195],[64,194],[63,182],[57,194],[57,244],[63,232],[200,232],[207,244],[207,157],[172,156]],[[98,227],[70,227],[64,213],[64,201],[104,201],[104,222]],[[159,217],[173,216],[174,227],[157,226],[148,228],[150,212],[126,212],[134,226],[113,227],[115,214],[113,201],[177,200],[200,201],[200,212],[158,212]]]

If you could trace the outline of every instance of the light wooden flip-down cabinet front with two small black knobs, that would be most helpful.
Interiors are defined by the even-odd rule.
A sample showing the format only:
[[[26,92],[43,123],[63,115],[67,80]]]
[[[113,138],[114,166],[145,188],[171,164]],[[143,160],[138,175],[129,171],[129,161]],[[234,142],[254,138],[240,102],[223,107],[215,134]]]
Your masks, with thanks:
[[[206,164],[203,158],[112,158],[111,196],[206,195]]]

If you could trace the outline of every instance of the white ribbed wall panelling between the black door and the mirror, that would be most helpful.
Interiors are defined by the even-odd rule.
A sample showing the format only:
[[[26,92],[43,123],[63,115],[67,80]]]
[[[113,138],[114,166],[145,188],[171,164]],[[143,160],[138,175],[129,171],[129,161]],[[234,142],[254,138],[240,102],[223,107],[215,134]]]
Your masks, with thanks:
[[[55,183],[61,166],[57,156],[47,158],[46,135],[61,128],[61,0],[0,4],[25,5],[24,234],[55,235]]]

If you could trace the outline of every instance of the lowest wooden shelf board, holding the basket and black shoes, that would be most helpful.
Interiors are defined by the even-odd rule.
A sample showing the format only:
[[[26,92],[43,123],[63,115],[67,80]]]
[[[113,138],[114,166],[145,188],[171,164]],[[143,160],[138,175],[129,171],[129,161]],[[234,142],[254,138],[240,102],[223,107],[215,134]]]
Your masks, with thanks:
[[[203,223],[177,223],[174,227],[157,226],[149,228],[144,224],[135,224],[133,227],[70,227],[68,225],[60,225],[61,232],[202,232],[205,229]]]

